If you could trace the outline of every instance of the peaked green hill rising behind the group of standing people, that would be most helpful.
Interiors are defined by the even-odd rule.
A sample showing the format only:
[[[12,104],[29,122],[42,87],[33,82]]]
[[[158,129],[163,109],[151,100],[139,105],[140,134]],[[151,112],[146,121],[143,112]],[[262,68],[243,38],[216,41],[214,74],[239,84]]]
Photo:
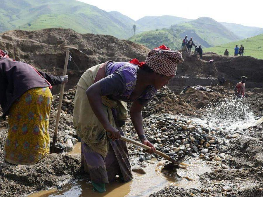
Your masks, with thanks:
[[[157,43],[165,43],[171,48],[180,49],[185,35],[188,35],[188,40],[193,37],[194,43],[203,46],[203,48],[237,40],[237,37],[226,27],[207,17],[172,25],[169,29],[142,32],[129,40],[149,48],[153,48]]]

